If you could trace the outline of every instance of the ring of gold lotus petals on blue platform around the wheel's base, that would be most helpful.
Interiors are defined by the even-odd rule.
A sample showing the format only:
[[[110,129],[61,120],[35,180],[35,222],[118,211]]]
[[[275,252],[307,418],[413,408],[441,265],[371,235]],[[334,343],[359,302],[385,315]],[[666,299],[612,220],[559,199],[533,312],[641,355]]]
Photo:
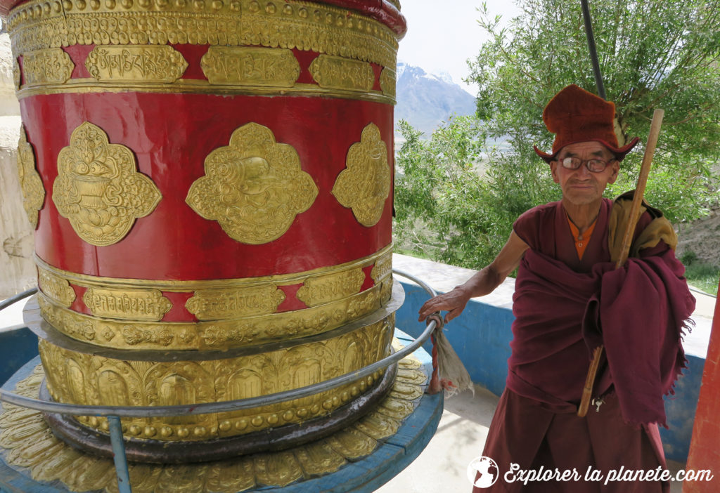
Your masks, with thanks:
[[[414,356],[400,361],[400,367],[419,364]],[[417,373],[418,370],[415,370]],[[15,387],[19,395],[37,399],[45,374],[38,365],[30,377]],[[424,374],[423,374],[424,377]],[[418,378],[419,380],[420,378]],[[424,379],[423,379],[424,380]],[[418,387],[419,388],[419,387]],[[99,459],[76,451],[53,435],[40,411],[4,404],[0,414],[0,446],[14,467],[30,469],[36,481],[58,480],[70,491],[112,491],[117,488],[111,459]],[[394,423],[376,420],[374,415],[402,421],[413,413],[412,400],[386,397],[360,423],[388,423],[380,435],[391,436]],[[366,427],[366,429],[369,429]],[[377,435],[376,435],[377,436]],[[29,439],[30,438],[30,439]],[[371,454],[378,441],[363,433],[359,425],[350,425],[321,440],[279,453],[258,453],[228,461],[200,464],[130,464],[130,484],[135,493],[166,491],[212,491],[236,493],[261,487],[282,487],[302,477],[320,476]]]

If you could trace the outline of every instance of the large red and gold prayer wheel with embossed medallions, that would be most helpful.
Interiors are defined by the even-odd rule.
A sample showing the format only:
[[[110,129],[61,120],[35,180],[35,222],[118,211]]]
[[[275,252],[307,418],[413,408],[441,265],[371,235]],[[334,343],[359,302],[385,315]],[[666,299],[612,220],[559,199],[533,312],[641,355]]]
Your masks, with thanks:
[[[3,0],[47,393],[258,397],[390,353],[395,1]],[[394,369],[233,413],[123,419],[130,459],[331,433]],[[104,418],[49,416],[108,451]]]

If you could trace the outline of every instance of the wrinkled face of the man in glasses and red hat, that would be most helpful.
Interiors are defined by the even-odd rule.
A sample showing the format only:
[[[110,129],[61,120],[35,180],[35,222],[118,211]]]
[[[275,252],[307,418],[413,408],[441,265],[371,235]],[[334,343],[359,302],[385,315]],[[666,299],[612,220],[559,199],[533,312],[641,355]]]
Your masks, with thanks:
[[[582,164],[577,170],[569,170],[561,164],[566,157],[578,158]],[[592,172],[585,165],[588,160],[608,161],[608,165],[603,171]],[[584,206],[600,201],[608,183],[615,183],[618,178],[620,164],[600,142],[578,142],[560,149],[557,159],[550,162],[550,170],[553,180],[562,189],[564,200]]]

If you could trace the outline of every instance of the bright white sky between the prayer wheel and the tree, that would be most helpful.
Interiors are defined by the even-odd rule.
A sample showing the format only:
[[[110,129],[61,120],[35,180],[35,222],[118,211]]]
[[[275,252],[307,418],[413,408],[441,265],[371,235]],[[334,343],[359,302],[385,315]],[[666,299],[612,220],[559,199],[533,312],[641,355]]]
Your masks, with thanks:
[[[477,25],[482,0],[401,0],[408,19],[408,34],[400,40],[398,60],[431,73],[447,72],[474,96],[474,88],[462,83],[469,74],[468,58],[474,59],[485,39]],[[487,0],[490,14],[503,22],[518,13],[513,0]]]

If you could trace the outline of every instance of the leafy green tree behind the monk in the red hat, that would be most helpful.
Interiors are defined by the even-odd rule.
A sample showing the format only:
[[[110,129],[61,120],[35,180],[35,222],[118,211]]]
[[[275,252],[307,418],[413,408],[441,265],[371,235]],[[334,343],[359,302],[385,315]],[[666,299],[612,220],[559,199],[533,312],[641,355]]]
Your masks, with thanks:
[[[400,125],[400,247],[412,249],[424,227],[428,256],[477,268],[497,254],[520,213],[559,198],[532,146],[552,147],[541,116],[555,93],[570,83],[596,92],[580,2],[518,6],[503,29],[485,4],[479,9],[490,40],[469,62],[480,87],[477,115],[449,121],[427,141]],[[644,142],[652,112],[665,109],[647,200],[673,222],[703,216],[720,197],[720,0],[595,0],[590,11],[618,140]],[[608,197],[634,188],[643,151],[641,143],[626,157]]]

